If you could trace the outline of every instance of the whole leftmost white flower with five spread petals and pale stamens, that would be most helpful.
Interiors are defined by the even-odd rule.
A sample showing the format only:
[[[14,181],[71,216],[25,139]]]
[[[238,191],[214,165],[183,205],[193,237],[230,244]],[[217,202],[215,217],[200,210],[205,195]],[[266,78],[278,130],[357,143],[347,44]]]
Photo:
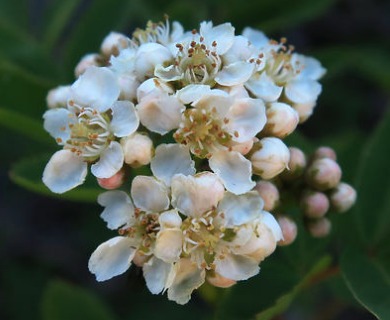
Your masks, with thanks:
[[[82,95],[83,91],[99,89],[111,77],[108,69],[88,69],[72,86],[73,99],[69,101],[69,107],[45,112],[44,128],[67,151],[58,151],[44,171],[43,181],[52,191],[63,193],[82,184],[85,176],[80,175],[80,171],[84,170],[86,162],[93,163],[91,171],[97,178],[109,178],[121,169],[124,154],[115,137],[124,137],[137,130],[139,120],[134,105],[129,101],[113,100],[118,91],[110,87],[112,84],[108,84],[109,98],[102,92],[96,93],[101,100],[97,100],[91,92],[88,93],[90,97]],[[117,94],[112,95],[114,91]],[[87,101],[100,111],[88,107]],[[108,110],[109,113],[103,112]],[[69,152],[76,157],[71,157]],[[55,169],[60,166],[64,167],[63,172]],[[65,172],[72,175],[68,179],[73,183],[64,180]]]

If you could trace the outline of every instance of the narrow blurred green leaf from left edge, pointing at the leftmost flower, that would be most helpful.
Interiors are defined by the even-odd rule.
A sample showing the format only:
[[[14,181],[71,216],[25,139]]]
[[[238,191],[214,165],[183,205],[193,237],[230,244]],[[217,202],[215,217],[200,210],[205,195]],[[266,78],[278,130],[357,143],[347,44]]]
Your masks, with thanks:
[[[53,139],[43,129],[41,122],[18,112],[0,108],[0,126],[19,133],[28,139],[53,145]]]

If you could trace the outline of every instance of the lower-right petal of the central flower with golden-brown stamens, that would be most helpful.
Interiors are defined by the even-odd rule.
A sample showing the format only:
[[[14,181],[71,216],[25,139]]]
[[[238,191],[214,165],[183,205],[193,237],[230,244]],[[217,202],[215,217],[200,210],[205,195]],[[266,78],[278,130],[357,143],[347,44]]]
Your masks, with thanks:
[[[209,160],[213,170],[223,181],[225,188],[234,194],[251,190],[256,183],[252,181],[252,164],[237,151],[218,151]]]

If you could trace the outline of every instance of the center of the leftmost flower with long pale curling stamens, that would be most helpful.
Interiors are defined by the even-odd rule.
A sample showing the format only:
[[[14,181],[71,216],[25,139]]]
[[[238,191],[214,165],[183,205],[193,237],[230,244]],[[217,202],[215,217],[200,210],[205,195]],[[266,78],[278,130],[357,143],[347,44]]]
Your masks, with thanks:
[[[113,139],[109,131],[109,118],[91,108],[80,108],[77,122],[70,123],[70,139],[65,148],[86,161],[95,161]]]

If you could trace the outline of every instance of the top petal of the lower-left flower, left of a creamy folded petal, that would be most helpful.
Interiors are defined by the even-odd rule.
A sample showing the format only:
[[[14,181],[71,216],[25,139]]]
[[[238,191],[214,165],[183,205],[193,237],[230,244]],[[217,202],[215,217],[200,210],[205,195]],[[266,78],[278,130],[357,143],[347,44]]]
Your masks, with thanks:
[[[146,212],[162,212],[169,207],[167,187],[154,177],[136,176],[131,196],[135,206]]]

